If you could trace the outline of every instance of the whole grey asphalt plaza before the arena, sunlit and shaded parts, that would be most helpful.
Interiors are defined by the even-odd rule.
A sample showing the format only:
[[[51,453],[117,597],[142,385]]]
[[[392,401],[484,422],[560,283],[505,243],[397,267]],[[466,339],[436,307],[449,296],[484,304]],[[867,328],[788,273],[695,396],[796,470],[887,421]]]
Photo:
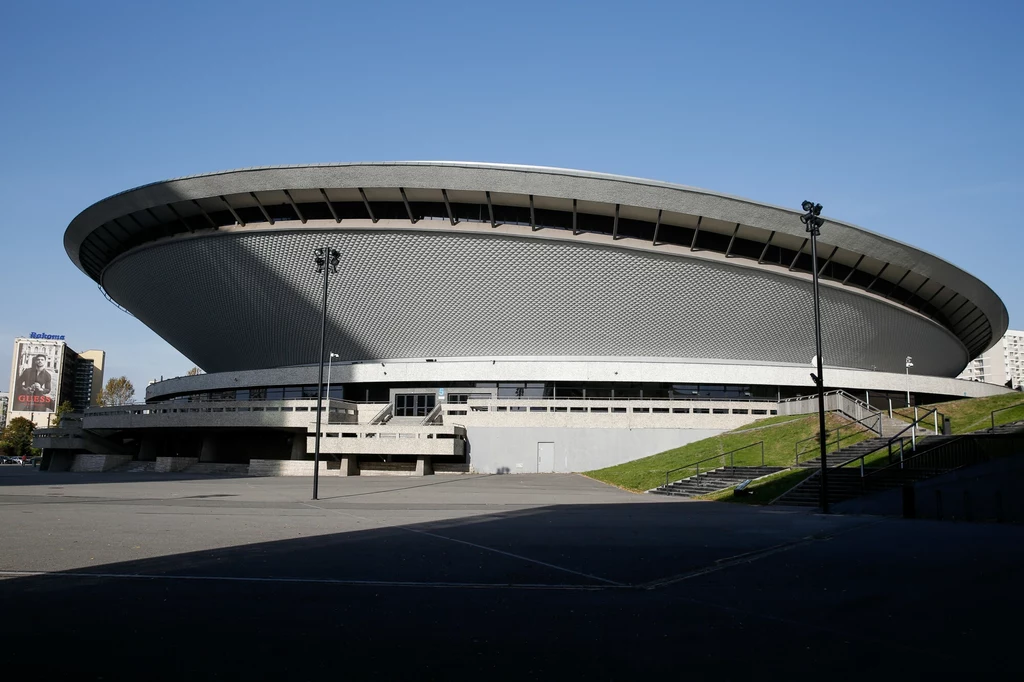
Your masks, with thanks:
[[[0,470],[40,679],[1014,671],[1024,528],[637,496],[577,475]]]

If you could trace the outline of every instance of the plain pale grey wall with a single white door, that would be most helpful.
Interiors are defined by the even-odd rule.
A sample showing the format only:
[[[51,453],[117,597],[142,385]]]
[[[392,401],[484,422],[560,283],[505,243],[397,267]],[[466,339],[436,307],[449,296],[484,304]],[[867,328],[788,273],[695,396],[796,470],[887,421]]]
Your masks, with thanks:
[[[726,429],[467,426],[478,473],[538,473],[538,443],[554,443],[553,471],[588,471],[679,447]]]

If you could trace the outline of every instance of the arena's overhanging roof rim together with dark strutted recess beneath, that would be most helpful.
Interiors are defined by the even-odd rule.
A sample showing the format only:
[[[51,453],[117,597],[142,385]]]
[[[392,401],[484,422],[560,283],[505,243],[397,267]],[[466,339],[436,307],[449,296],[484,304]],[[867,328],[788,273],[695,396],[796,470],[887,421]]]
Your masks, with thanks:
[[[442,232],[460,222],[528,226],[545,238],[610,237],[622,248],[717,254],[790,276],[811,269],[795,210],[666,182],[557,168],[454,162],[352,163],[240,169],[156,182],[104,199],[65,235],[75,264],[104,272],[144,245],[225,228],[300,227],[330,221]],[[819,274],[934,321],[975,357],[1008,327],[984,283],[936,256],[827,219]],[[114,296],[118,298],[117,295]],[[129,306],[130,307],[130,306]]]

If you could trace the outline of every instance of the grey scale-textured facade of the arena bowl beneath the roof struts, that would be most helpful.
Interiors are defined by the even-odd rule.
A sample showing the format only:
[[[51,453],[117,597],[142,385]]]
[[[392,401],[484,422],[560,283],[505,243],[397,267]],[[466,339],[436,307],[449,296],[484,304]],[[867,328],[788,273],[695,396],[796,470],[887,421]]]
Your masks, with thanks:
[[[321,279],[341,254],[328,348],[343,359],[621,356],[805,365],[810,284],[695,258],[508,236],[221,232],[130,252],[103,274],[120,304],[208,372],[315,363]],[[822,289],[825,364],[953,376],[949,332],[853,292]]]

